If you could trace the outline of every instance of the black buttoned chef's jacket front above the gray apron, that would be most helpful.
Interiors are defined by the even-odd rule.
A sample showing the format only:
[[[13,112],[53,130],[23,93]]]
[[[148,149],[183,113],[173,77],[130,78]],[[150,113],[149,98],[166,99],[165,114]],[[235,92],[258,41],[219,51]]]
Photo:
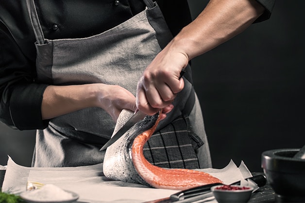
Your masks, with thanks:
[[[190,22],[186,0],[157,0],[175,35]],[[142,0],[35,0],[47,38],[79,38],[102,33],[143,11]]]

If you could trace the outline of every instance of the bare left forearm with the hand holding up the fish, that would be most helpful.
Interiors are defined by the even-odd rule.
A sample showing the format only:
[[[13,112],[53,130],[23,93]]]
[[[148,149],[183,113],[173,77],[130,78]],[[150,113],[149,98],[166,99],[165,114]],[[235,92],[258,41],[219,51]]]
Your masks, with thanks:
[[[89,107],[104,109],[116,121],[122,109],[136,110],[136,98],[119,85],[50,85],[43,94],[41,115],[50,119]]]

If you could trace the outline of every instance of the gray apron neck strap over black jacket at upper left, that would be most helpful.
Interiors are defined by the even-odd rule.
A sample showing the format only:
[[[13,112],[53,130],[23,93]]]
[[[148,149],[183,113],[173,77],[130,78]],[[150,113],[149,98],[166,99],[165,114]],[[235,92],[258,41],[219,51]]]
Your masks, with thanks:
[[[30,15],[32,27],[38,44],[44,44],[45,37],[43,35],[41,25],[38,19],[34,0],[26,0],[28,12]]]

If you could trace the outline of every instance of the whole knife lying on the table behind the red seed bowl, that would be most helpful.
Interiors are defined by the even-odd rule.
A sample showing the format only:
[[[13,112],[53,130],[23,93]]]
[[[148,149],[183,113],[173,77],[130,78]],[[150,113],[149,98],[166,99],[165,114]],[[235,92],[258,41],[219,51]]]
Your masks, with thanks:
[[[258,187],[265,186],[267,183],[266,177],[262,174],[255,175],[253,177],[247,178],[246,180],[253,181]],[[168,198],[153,200],[145,203],[192,203],[199,200],[202,200],[202,202],[204,202],[207,201],[208,198],[213,197],[213,193],[210,189],[212,186],[217,186],[217,185],[223,185],[223,184],[213,183],[204,186],[193,187],[172,194]],[[240,185],[240,181],[237,181],[231,185]]]

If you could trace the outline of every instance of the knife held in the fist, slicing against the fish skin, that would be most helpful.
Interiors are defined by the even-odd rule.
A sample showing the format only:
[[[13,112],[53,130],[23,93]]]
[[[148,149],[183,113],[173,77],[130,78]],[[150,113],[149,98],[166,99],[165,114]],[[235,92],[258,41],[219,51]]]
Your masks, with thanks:
[[[180,72],[180,78],[182,78],[182,76],[184,75],[184,73],[186,72],[186,70],[183,68]],[[100,149],[100,151],[106,150],[107,147],[109,147],[110,145],[112,145],[113,143],[115,143],[122,135],[124,135],[133,125],[136,124],[137,121],[143,119],[145,116],[147,116],[146,114],[144,114],[141,111],[136,111],[136,113],[129,118],[129,120],[119,129],[119,131],[113,135],[108,142],[106,142],[106,144],[104,144],[102,146],[102,148]]]

